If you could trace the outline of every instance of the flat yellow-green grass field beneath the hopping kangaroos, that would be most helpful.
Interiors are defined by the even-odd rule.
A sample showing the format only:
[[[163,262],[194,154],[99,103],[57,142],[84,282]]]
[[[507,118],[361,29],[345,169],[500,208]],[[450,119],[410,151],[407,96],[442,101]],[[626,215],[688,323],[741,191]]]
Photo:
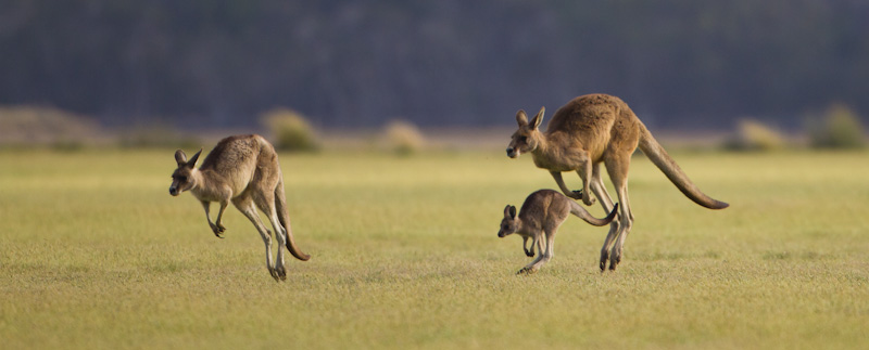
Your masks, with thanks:
[[[607,228],[571,218],[530,276],[496,236],[506,204],[555,186],[530,158],[287,154],[313,258],[285,283],[241,213],[217,239],[168,195],[172,154],[0,152],[0,347],[869,347],[867,153],[673,154],[721,211],[638,156],[619,270],[597,270]]]

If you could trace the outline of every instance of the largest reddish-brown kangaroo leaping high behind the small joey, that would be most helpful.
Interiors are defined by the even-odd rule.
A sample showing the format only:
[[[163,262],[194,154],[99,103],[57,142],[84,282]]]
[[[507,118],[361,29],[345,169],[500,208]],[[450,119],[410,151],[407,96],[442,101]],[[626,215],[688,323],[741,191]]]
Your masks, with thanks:
[[[530,153],[534,165],[550,170],[565,195],[590,206],[594,204],[591,197],[591,193],[594,193],[604,210],[609,211],[614,208],[613,199],[601,180],[600,164],[606,166],[621,208],[618,220],[610,223],[609,233],[601,248],[601,271],[605,269],[607,259],[609,270],[615,270],[621,261],[622,246],[633,223],[628,200],[628,168],[638,144],[646,157],[691,200],[709,209],[728,207],[727,203],[705,195],[688,179],[620,99],[606,94],[576,98],[555,112],[546,132],[540,132],[538,127],[543,120],[544,111],[540,108],[530,122],[524,111],[516,114],[519,129],[507,146],[507,156],[516,158]],[[582,190],[570,191],[562,179],[564,171],[579,173]]]

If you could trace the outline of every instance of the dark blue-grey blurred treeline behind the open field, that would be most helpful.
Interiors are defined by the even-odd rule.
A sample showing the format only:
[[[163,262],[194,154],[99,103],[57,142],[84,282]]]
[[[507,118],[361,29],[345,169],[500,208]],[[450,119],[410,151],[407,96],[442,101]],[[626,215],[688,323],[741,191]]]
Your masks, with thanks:
[[[113,126],[506,125],[591,92],[662,128],[867,112],[869,2],[0,2],[0,104]]]

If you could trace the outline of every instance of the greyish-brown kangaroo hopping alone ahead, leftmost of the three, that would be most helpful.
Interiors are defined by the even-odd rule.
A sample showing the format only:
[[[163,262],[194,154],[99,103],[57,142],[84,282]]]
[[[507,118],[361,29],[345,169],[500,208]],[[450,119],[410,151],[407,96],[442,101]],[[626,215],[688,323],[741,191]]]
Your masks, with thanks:
[[[218,238],[226,228],[221,223],[224,210],[231,200],[248,219],[265,243],[265,264],[275,280],[286,280],[284,268],[284,249],[278,248],[275,264],[272,264],[272,232],[268,231],[260,215],[259,207],[275,230],[278,242],[299,260],[306,261],[311,256],[302,252],[292,237],[290,215],[287,211],[287,199],[284,195],[284,177],[278,166],[275,147],[260,135],[235,135],[221,140],[209,153],[202,166],[197,169],[197,159],[202,150],[190,160],[184,151],[175,152],[178,169],[172,174],[169,194],[177,196],[190,191],[205,208],[205,219]],[[221,204],[217,220],[211,221],[209,207],[212,202]]]

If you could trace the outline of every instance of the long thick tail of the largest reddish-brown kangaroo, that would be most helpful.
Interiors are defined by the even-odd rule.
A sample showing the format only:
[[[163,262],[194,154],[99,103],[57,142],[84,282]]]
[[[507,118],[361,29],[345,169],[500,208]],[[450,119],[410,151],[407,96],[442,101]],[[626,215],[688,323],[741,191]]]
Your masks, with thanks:
[[[648,132],[648,129],[642,127],[642,134],[640,135],[640,150],[643,151],[646,157],[652,160],[655,166],[667,176],[667,179],[676,185],[687,197],[694,203],[704,206],[709,209],[723,209],[729,207],[730,205],[720,200],[713,199],[711,197],[707,196],[700,189],[691,182],[691,179],[679,168],[679,165],[676,164],[670,155],[667,154],[667,151],[664,151],[664,147],[655,141],[655,138],[652,137],[652,133]]]

